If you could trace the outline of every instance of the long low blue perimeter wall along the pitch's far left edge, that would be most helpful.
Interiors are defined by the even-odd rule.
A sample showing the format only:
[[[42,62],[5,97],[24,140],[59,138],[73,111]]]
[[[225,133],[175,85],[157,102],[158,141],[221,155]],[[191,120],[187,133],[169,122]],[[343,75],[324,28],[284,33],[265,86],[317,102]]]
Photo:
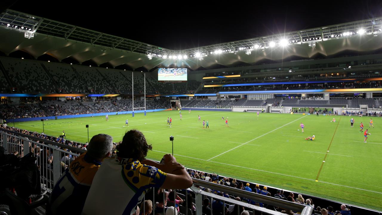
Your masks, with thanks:
[[[146,110],[146,112],[158,112],[165,111],[168,109],[154,109],[154,110]],[[134,111],[136,113],[143,113],[144,111]],[[118,114],[131,114],[133,111],[122,111],[118,112]],[[66,116],[57,116],[57,119],[69,119],[69,118],[78,118],[78,117],[92,117],[92,116],[105,116],[105,115],[116,115],[117,112],[107,112],[107,113],[96,113],[96,114],[78,114],[78,115],[66,115]],[[8,123],[10,122],[27,122],[27,121],[40,121],[41,119],[55,119],[56,116],[46,116],[46,117],[31,117],[31,118],[20,118],[20,119],[6,119]]]

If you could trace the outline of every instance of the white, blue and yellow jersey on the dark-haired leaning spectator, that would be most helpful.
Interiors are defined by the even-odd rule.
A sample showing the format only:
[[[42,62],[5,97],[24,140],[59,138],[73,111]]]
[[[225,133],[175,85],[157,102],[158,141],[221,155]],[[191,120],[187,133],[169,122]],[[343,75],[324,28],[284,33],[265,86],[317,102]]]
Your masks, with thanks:
[[[106,158],[94,177],[83,214],[133,214],[150,187],[161,187],[167,174],[138,160]],[[99,197],[110,196],[99,202]]]

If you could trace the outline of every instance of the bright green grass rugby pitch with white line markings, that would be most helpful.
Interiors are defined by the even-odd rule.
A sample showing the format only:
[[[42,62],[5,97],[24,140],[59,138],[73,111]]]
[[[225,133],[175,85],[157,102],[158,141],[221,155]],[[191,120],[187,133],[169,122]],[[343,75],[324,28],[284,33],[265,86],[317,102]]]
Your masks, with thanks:
[[[257,118],[255,113],[216,111],[182,111],[182,115],[182,120],[178,111],[113,115],[108,122],[105,117],[49,120],[45,133],[58,136],[65,130],[69,140],[86,142],[89,124],[90,138],[105,133],[118,142],[126,130],[138,129],[152,144],[147,157],[154,160],[171,153],[173,135],[174,155],[188,168],[382,210],[380,117],[373,117],[375,128],[363,143],[359,123],[368,129],[369,117],[354,117],[350,127],[349,116],[335,116],[337,122],[330,122],[333,116],[260,114]],[[209,129],[202,129],[198,115],[209,120]],[[229,117],[229,127],[222,116]],[[171,128],[167,117],[173,118]],[[129,127],[123,127],[126,119]],[[20,122],[16,127],[42,132],[41,121]],[[305,140],[311,135],[316,140]]]

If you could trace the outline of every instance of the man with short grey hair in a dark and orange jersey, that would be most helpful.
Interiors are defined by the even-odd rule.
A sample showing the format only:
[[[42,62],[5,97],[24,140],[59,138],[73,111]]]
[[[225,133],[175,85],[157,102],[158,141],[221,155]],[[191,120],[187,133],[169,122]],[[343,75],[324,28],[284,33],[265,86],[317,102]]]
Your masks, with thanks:
[[[47,211],[57,214],[81,214],[95,173],[105,157],[112,154],[113,138],[94,135],[87,151],[70,163],[49,196]],[[73,204],[75,202],[75,204]]]

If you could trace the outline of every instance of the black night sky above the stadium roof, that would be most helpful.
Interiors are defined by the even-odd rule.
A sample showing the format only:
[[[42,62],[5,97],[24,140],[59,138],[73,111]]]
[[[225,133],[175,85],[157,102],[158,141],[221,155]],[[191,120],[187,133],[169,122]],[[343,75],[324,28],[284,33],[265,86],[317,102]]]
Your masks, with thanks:
[[[240,4],[238,1],[44,2],[19,0],[10,9],[168,49],[187,49],[382,16],[382,1],[366,0],[242,1]]]

